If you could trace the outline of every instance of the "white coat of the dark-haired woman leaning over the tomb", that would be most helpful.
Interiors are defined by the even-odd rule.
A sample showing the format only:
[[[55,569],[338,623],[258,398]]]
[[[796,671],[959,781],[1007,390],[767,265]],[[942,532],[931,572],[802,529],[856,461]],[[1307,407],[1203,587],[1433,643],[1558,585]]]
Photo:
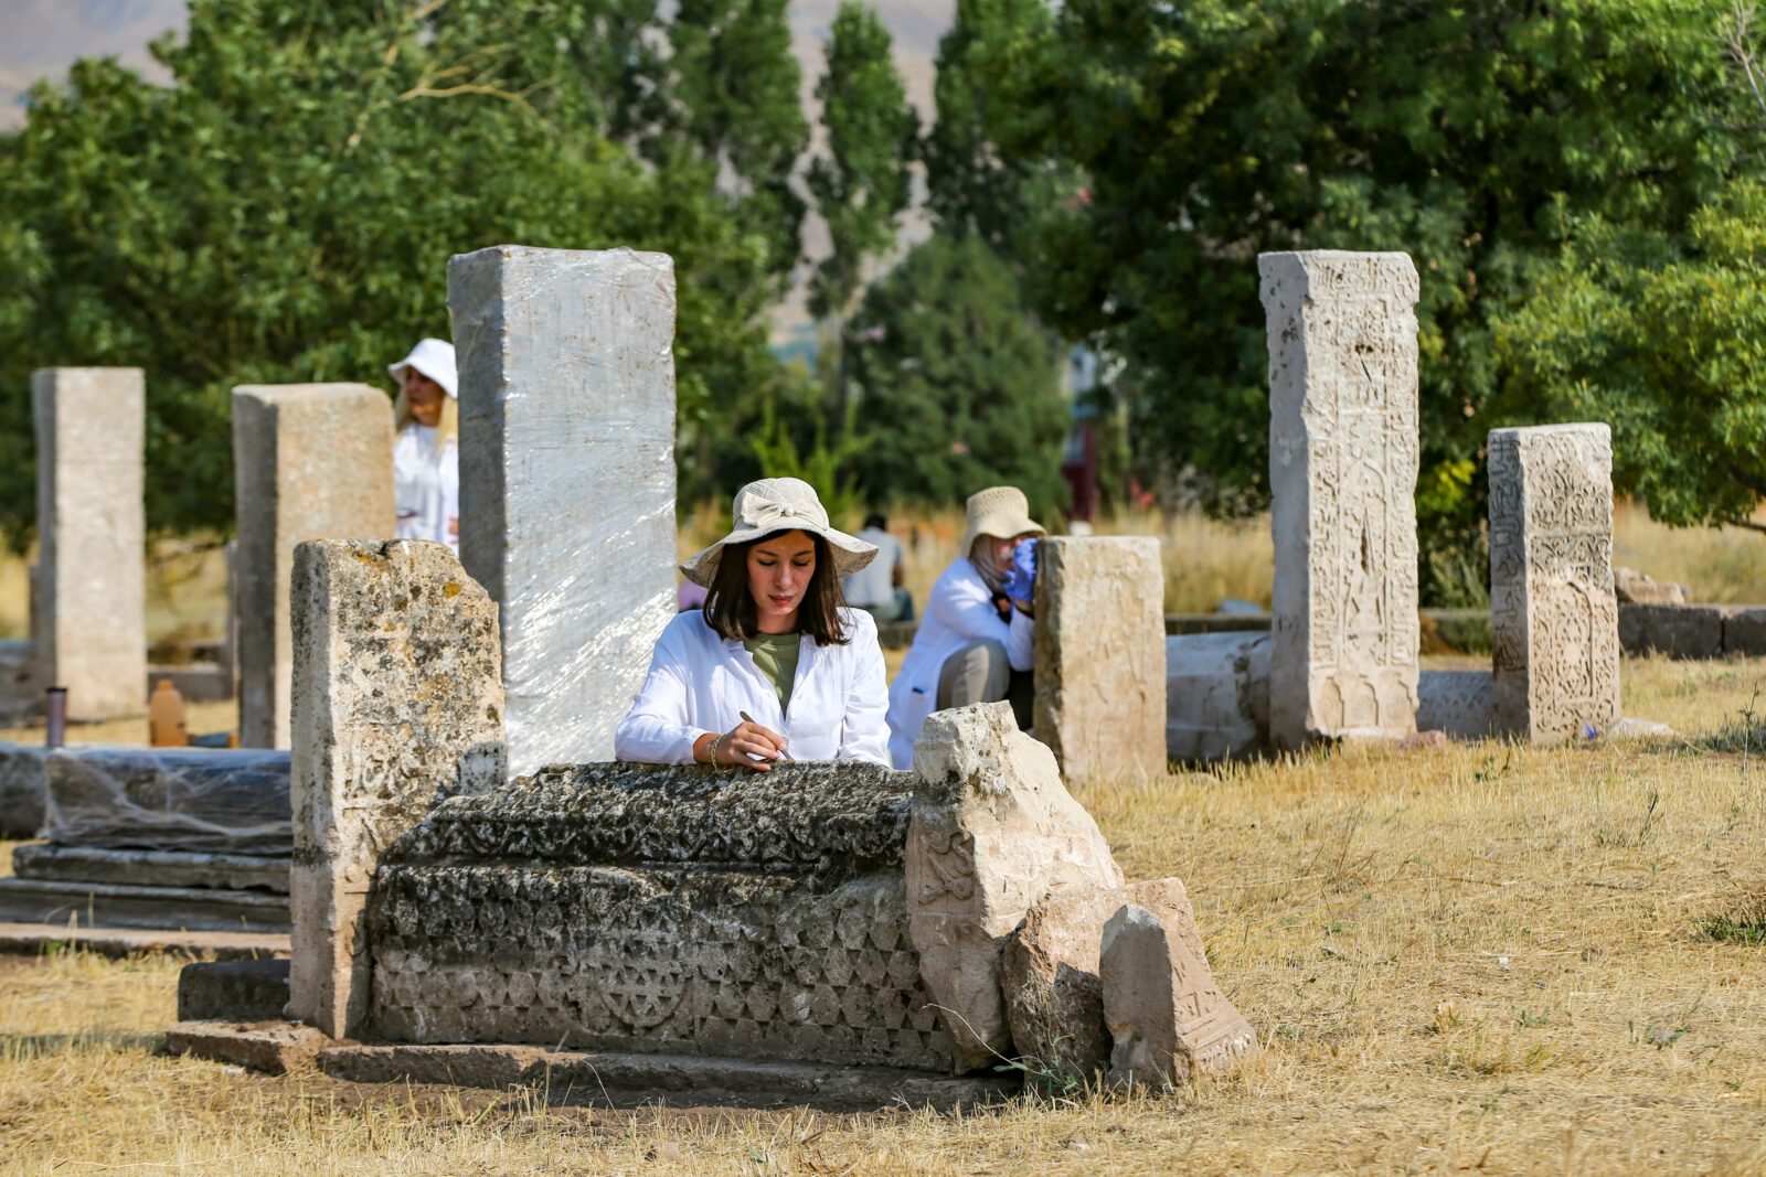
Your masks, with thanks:
[[[791,683],[789,715],[779,692],[738,641],[719,637],[698,609],[676,614],[650,658],[650,676],[613,736],[613,755],[643,764],[692,764],[692,745],[706,732],[728,732],[740,711],[786,738],[798,761],[872,761],[888,764],[883,722],[883,649],[871,614],[842,609],[846,646],[818,646],[804,637]]]

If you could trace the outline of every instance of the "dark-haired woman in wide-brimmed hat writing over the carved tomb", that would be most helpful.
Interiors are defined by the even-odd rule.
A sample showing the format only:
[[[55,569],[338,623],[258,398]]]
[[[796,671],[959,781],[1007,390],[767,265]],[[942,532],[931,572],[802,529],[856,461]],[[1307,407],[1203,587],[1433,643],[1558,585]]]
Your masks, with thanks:
[[[772,768],[888,764],[883,649],[841,579],[876,547],[828,526],[800,478],[736,491],[729,535],[680,570],[708,589],[657,639],[650,676],[613,738],[622,761]]]

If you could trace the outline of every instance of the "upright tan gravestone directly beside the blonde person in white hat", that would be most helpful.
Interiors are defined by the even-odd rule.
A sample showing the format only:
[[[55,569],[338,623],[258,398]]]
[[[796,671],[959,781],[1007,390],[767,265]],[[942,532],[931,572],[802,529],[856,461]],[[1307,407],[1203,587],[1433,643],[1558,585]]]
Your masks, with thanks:
[[[392,402],[367,385],[235,388],[233,485],[238,741],[286,748],[295,545],[392,535]]]

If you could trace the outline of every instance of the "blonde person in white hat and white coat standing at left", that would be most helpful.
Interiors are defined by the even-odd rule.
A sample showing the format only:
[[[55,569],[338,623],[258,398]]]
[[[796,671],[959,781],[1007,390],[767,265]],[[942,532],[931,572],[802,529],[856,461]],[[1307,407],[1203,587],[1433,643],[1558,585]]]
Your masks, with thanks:
[[[422,339],[387,374],[399,381],[392,402],[392,498],[396,538],[436,540],[459,551],[459,390],[454,344]]]

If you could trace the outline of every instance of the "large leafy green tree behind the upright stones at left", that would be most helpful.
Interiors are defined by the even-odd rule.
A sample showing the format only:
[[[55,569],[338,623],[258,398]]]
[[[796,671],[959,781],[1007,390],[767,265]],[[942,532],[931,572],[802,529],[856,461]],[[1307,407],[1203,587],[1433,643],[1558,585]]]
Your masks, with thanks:
[[[426,16],[426,14],[436,16]],[[194,0],[175,85],[115,62],[0,138],[0,526],[32,519],[26,374],[140,365],[148,522],[230,528],[230,388],[374,379],[449,334],[445,261],[500,242],[675,256],[685,416],[766,379],[766,249],[715,164],[595,127],[553,0]],[[445,18],[445,19],[442,19]]]

